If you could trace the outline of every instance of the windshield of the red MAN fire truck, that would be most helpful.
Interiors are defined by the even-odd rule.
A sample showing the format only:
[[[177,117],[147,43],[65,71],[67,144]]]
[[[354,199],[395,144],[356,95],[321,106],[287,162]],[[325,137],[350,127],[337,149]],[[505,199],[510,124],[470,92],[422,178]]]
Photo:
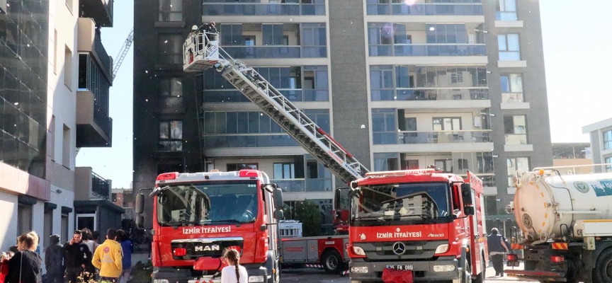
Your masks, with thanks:
[[[157,221],[162,226],[249,223],[256,215],[256,181],[181,183],[157,195]]]

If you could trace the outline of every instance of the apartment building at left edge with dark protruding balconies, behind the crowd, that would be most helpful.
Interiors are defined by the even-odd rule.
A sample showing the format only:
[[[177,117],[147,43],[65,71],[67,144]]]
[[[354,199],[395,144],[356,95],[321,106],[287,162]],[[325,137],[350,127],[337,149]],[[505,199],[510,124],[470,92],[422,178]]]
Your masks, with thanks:
[[[77,148],[111,146],[112,26],[113,0],[0,0],[1,250],[36,231],[44,257],[52,234],[120,223],[110,182],[75,164]]]

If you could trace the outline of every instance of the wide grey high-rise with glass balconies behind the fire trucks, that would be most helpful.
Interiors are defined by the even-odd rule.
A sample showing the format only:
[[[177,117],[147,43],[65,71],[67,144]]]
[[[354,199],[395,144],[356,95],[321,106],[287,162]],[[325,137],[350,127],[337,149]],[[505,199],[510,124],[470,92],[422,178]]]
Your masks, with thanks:
[[[229,55],[372,171],[472,171],[488,214],[506,219],[514,172],[552,164],[536,0],[136,0],[135,11],[135,188],[168,171],[257,168],[288,205],[309,200],[331,221],[343,184],[220,74],[183,73],[183,40],[210,21]]]

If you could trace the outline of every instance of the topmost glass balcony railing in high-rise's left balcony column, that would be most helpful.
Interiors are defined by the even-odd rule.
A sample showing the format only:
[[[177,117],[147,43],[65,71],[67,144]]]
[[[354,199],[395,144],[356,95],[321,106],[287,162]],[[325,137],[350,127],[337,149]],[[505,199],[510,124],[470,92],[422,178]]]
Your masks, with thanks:
[[[325,4],[202,4],[203,16],[325,16]]]

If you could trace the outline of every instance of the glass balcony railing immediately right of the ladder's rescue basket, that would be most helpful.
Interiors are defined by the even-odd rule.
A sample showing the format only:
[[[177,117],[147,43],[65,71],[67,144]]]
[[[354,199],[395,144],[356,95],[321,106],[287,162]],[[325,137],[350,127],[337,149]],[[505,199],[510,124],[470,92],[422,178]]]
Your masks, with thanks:
[[[325,46],[224,46],[227,54],[239,59],[326,58]]]

